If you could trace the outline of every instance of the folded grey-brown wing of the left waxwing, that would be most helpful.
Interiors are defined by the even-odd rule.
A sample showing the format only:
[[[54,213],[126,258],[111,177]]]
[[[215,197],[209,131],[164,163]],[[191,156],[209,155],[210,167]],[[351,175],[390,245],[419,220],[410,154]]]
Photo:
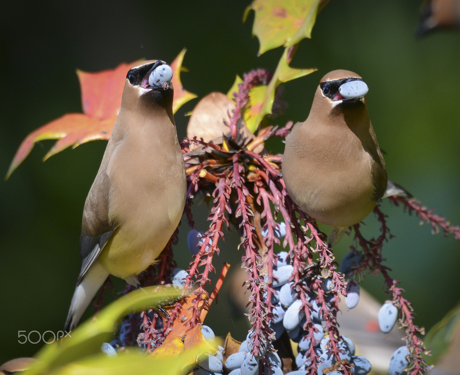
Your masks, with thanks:
[[[103,166],[104,161],[88,193],[83,210],[80,236],[81,269],[77,285],[81,283],[116,228],[116,225],[109,223],[111,183]]]

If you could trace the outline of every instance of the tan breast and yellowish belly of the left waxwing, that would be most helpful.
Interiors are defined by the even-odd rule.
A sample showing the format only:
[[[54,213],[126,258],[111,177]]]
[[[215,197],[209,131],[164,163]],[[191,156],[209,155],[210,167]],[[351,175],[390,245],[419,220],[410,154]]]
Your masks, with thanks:
[[[138,274],[154,262],[184,209],[185,165],[175,128],[162,136],[151,130],[127,132],[107,169],[109,219],[121,224],[100,258],[117,277]]]

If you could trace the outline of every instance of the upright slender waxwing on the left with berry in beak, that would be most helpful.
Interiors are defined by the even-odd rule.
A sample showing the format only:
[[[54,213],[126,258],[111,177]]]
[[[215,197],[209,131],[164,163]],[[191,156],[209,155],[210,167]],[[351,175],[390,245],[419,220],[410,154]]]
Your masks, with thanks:
[[[151,60],[127,74],[120,114],[86,198],[81,271],[66,331],[109,274],[138,286],[179,224],[186,175],[173,117],[173,71]]]

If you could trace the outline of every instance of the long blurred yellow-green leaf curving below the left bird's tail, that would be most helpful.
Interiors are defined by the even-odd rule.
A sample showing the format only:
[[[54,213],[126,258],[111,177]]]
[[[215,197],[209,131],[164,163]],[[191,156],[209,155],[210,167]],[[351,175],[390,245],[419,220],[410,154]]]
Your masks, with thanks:
[[[99,353],[102,343],[113,339],[115,329],[123,317],[132,312],[155,308],[165,301],[172,301],[181,293],[182,290],[175,288],[152,286],[135,290],[115,300],[73,330],[71,337],[64,337],[59,343],[44,346],[37,354],[37,361],[24,375],[42,374],[57,366]]]

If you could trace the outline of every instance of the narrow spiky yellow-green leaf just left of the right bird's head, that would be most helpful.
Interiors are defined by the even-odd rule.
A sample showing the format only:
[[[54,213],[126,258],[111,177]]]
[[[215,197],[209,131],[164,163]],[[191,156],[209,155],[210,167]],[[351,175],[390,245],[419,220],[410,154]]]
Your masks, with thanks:
[[[273,107],[273,102],[275,100],[275,90],[276,90],[276,87],[278,87],[280,83],[291,81],[293,79],[303,77],[304,75],[308,75],[316,71],[316,68],[311,68],[311,69],[291,68],[288,64],[288,52],[289,52],[289,48],[286,47],[278,63],[278,66],[276,67],[275,74],[273,75],[273,78],[268,84],[267,90],[265,92],[264,101],[260,106],[259,115],[257,116],[254,123],[252,124],[252,126],[255,128],[259,126],[260,121],[263,120],[265,115],[272,113],[271,109]]]

